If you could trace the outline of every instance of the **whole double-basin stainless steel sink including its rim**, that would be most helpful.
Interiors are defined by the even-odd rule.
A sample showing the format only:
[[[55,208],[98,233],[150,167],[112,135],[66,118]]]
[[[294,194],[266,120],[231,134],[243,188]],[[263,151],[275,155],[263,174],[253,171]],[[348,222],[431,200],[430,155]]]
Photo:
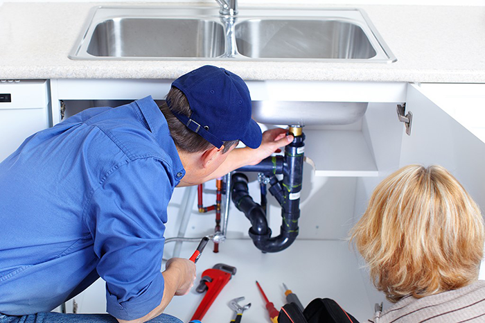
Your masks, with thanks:
[[[358,9],[240,8],[229,25],[215,7],[171,6],[94,8],[69,58],[396,61]]]

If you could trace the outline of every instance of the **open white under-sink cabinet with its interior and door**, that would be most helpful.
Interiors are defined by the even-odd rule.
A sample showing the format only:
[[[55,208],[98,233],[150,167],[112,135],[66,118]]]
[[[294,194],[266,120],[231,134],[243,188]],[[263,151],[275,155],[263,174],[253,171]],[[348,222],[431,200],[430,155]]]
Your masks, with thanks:
[[[170,80],[51,80],[53,123],[64,116],[109,100],[123,102],[152,95],[161,100],[170,88]],[[350,125],[309,126],[306,133],[306,156],[315,161],[315,169],[305,165],[301,192],[300,234],[297,241],[283,252],[263,254],[248,239],[249,221],[233,205],[230,207],[227,241],[220,252],[211,252],[211,243],[197,263],[197,281],[203,270],[215,263],[238,268],[236,275],[222,290],[204,317],[205,322],[231,320],[227,306],[230,299],[244,296],[245,322],[269,322],[264,304],[254,281],[258,280],[277,307],[284,304],[282,283],[299,295],[306,305],[317,297],[331,297],[364,321],[373,315],[374,304],[385,302],[361,268],[362,259],[344,241],[353,223],[364,212],[373,188],[389,173],[407,164],[441,164],[464,184],[473,198],[485,209],[484,137],[479,129],[467,123],[466,106],[450,107],[442,98],[440,87],[405,82],[297,82],[249,81],[252,98],[271,101],[293,101],[297,111],[300,101],[368,102],[363,118]],[[456,103],[466,103],[475,94],[485,93],[485,85],[476,92],[457,94]],[[458,93],[457,92],[457,93]],[[116,103],[114,102],[114,103]],[[412,112],[410,135],[398,121],[397,105]],[[468,104],[468,103],[466,103]],[[466,105],[465,104],[465,105]],[[464,110],[462,110],[464,109]],[[455,113],[461,111],[461,116]],[[455,112],[454,112],[455,111]],[[469,113],[473,113],[472,110]],[[468,118],[468,119],[467,119]],[[470,120],[473,120],[470,119]],[[258,201],[256,175],[251,174],[250,191]],[[213,182],[205,186],[204,201],[213,204]],[[176,236],[180,224],[179,209],[185,202],[186,189],[176,189],[169,205],[166,237]],[[279,232],[280,210],[268,197],[268,216],[273,232]],[[186,236],[200,237],[213,232],[213,215],[197,213],[194,208]],[[192,254],[197,243],[184,243],[180,256]],[[165,257],[173,256],[166,245]],[[75,297],[78,313],[105,310],[103,281],[98,280],[85,293]],[[188,321],[202,299],[191,291],[175,297],[166,313]],[[388,304],[385,302],[385,306]]]

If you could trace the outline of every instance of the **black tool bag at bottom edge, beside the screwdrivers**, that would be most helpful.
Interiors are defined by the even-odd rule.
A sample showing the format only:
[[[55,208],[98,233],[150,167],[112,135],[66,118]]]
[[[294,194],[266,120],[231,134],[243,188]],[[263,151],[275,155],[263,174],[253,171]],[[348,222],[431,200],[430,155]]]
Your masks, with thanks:
[[[279,323],[359,323],[344,311],[337,302],[329,298],[313,299],[303,313],[294,304],[286,304],[278,315]]]

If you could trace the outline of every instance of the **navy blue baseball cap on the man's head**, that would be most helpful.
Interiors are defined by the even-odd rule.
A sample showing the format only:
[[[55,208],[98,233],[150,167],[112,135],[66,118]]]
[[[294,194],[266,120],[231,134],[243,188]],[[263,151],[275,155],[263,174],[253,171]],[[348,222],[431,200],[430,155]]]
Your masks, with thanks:
[[[261,128],[251,119],[249,89],[236,74],[206,65],[180,76],[172,86],[185,94],[192,114],[172,113],[215,147],[232,140],[243,141],[249,148],[261,145]]]

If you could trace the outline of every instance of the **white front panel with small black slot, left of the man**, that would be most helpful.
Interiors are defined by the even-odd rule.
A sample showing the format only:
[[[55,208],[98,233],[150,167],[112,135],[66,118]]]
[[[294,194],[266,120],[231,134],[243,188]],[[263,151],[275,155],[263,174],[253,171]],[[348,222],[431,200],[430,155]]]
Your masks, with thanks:
[[[0,161],[51,124],[47,80],[0,81]]]

